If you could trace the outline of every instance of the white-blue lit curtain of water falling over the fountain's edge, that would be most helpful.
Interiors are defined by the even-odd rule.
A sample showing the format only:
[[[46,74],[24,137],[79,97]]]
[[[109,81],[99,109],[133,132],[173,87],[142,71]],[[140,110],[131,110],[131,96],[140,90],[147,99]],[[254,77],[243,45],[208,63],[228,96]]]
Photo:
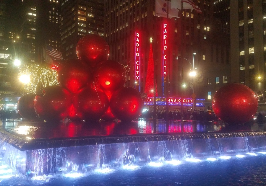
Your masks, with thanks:
[[[29,176],[88,172],[150,162],[266,151],[266,132],[107,137],[100,144],[20,151],[0,141],[0,173]],[[112,142],[112,143],[110,143]]]

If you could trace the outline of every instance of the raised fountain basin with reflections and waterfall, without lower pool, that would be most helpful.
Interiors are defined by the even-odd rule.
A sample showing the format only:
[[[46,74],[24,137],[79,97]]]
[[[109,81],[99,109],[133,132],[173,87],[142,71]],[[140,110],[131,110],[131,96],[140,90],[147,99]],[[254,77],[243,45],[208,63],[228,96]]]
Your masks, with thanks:
[[[4,120],[0,169],[5,175],[36,177],[266,152],[265,131],[226,132],[219,122],[153,122]]]

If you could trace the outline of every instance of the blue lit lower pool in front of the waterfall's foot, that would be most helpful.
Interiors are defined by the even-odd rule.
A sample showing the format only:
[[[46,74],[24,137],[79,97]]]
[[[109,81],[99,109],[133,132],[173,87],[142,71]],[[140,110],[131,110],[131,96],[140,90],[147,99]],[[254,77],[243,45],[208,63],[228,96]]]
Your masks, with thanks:
[[[0,176],[0,185],[266,185],[266,155],[246,154],[215,161],[180,161],[180,164],[145,164],[135,169],[93,171],[83,174],[56,174],[29,178]],[[174,162],[176,163],[176,162]],[[77,176],[77,177],[76,177]]]

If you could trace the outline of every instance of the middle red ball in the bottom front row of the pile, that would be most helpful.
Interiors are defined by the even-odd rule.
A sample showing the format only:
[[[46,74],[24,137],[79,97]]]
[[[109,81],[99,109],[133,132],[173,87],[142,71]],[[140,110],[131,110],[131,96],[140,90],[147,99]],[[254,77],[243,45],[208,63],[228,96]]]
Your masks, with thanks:
[[[82,120],[99,120],[107,111],[109,101],[101,89],[86,87],[74,96],[73,105]]]

